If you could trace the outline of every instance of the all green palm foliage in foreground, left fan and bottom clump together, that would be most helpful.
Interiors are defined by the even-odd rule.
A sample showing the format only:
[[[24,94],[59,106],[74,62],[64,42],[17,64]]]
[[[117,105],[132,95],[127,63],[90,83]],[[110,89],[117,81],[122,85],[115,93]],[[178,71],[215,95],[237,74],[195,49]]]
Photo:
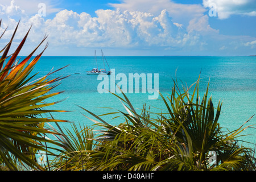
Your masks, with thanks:
[[[166,107],[159,113],[147,110],[145,105],[138,113],[125,94],[115,94],[124,110],[96,115],[80,106],[92,116],[85,115],[95,125],[87,127],[73,123],[71,130],[61,128],[59,122],[64,121],[44,117],[44,114],[51,116],[51,112],[59,112],[45,107],[56,104],[47,103],[46,99],[59,94],[51,92],[56,86],[52,84],[62,78],[47,78],[52,72],[34,81],[31,80],[36,75],[30,76],[44,50],[33,59],[32,55],[46,38],[29,56],[16,61],[28,33],[16,51],[7,56],[15,32],[0,52],[1,169],[255,170],[254,151],[239,146],[237,139],[251,126],[243,124],[237,130],[224,133],[218,122],[222,103],[213,106],[208,96],[209,83],[200,100],[200,77],[195,84],[189,88],[182,86],[182,89],[179,82],[173,80],[170,95],[159,93]],[[112,114],[113,119],[118,117],[123,122],[113,126],[102,119]],[[55,139],[49,139],[50,135]],[[39,165],[35,155],[39,151],[55,158]]]

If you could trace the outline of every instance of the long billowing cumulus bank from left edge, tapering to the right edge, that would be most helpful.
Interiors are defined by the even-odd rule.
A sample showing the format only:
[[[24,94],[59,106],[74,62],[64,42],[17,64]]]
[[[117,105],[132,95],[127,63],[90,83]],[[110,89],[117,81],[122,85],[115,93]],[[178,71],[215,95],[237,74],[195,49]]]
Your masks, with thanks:
[[[140,0],[138,2],[143,2]],[[163,2],[171,2],[162,0]],[[130,3],[135,1],[131,0]],[[154,3],[148,0],[149,3]],[[128,1],[123,5],[127,6]],[[131,3],[135,7],[135,5]],[[171,2],[172,3],[172,2]],[[122,4],[121,4],[122,5]],[[72,10],[61,10],[51,18],[43,18],[39,14],[28,15],[26,10],[11,1],[9,5],[0,6],[3,19],[0,34],[9,27],[3,40],[10,39],[18,20],[22,17],[16,39],[21,39],[31,28],[27,44],[38,44],[45,34],[53,49],[60,51],[65,48],[133,48],[133,49],[163,49],[167,51],[204,51],[216,49],[232,49],[232,47],[253,47],[254,40],[247,36],[224,36],[218,30],[209,26],[209,16],[202,14],[202,6],[197,6],[196,15],[187,18],[187,23],[178,21],[172,15],[172,9],[162,7],[149,11],[139,11],[133,6],[115,10],[97,10],[93,17],[88,13],[76,13]],[[168,5],[168,4],[167,4]],[[113,5],[114,6],[114,5]],[[181,6],[181,5],[177,5]],[[129,6],[127,6],[128,9]],[[184,6],[187,10],[188,5]],[[189,12],[189,11],[188,11]],[[188,14],[192,14],[188,13]],[[19,42],[19,40],[17,41]]]

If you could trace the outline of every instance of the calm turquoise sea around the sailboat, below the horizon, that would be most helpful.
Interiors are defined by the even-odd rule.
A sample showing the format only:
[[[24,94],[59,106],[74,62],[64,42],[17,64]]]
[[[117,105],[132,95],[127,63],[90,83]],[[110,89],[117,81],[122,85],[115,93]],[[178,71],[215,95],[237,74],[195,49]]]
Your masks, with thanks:
[[[129,73],[152,73],[152,75],[158,73],[159,91],[163,94],[171,92],[174,84],[172,78],[175,78],[175,74],[178,80],[189,86],[197,80],[201,72],[201,97],[210,79],[209,94],[212,96],[214,106],[217,107],[218,101],[223,101],[219,123],[226,130],[238,129],[247,119],[256,114],[256,57],[254,56],[106,56],[106,60],[110,68],[115,69],[115,75],[124,73],[128,78]],[[51,98],[51,101],[66,99],[52,106],[51,109],[70,111],[52,113],[56,119],[67,119],[90,126],[93,122],[84,115],[92,116],[79,106],[96,114],[115,110],[125,111],[120,100],[113,94],[97,92],[97,86],[101,80],[97,80],[96,75],[86,75],[86,71],[96,68],[93,56],[43,56],[33,73],[38,73],[37,76],[40,77],[52,68],[54,71],[66,65],[69,66],[51,75],[51,77],[70,75],[53,89],[53,92],[65,92]],[[104,67],[100,57],[98,67]],[[121,94],[118,95],[121,96]],[[165,109],[160,96],[159,100],[148,100],[148,95],[141,92],[129,93],[127,97],[134,107],[138,108],[138,113],[141,113],[139,109],[142,109],[144,103],[147,107],[151,107],[151,111],[160,111],[156,108]],[[99,107],[112,107],[114,110]],[[123,122],[122,118],[112,119],[114,116],[116,115],[102,118],[112,125]],[[254,124],[256,124],[256,116],[246,126]],[[61,123],[61,126],[69,128],[71,125]],[[255,129],[246,129],[243,134],[247,136],[241,139],[256,143]]]

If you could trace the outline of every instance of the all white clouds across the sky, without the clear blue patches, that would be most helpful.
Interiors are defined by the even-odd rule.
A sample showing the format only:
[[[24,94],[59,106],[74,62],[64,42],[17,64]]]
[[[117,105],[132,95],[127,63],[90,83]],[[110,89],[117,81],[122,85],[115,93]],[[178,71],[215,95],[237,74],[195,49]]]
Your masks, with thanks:
[[[23,2],[27,3],[27,0]],[[0,5],[0,34],[8,26],[2,39],[6,42],[10,39],[20,19],[17,42],[32,24],[28,47],[38,44],[47,34],[51,46],[49,55],[77,55],[74,50],[86,48],[113,49],[113,53],[117,53],[117,49],[126,49],[155,55],[234,55],[250,54],[256,48],[256,38],[252,36],[220,34],[220,30],[210,26],[208,14],[209,5],[214,4],[220,19],[233,14],[256,16],[253,0],[242,3],[204,0],[195,5],[170,0],[123,0],[119,4],[110,4],[113,10],[96,10],[94,17],[86,12],[61,10],[50,1],[45,2],[46,12],[53,14],[52,18],[40,16],[38,9],[23,8],[18,1]],[[235,3],[230,6],[231,2]],[[38,4],[39,1],[34,1],[31,6]],[[238,9],[238,6],[242,8]]]

